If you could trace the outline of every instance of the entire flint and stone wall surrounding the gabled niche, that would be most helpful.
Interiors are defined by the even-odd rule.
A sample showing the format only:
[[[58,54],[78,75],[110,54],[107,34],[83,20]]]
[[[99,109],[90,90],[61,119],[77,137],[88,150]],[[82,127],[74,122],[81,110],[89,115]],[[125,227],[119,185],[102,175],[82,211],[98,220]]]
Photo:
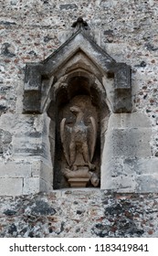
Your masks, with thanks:
[[[24,2],[0,1],[0,195],[10,196],[1,197],[1,237],[157,237],[157,195],[141,194],[158,187],[157,1]],[[52,189],[49,119],[22,113],[25,67],[64,43],[78,16],[101,48],[132,67],[132,113],[111,113],[101,187],[140,194],[72,190],[12,197]],[[39,222],[31,228],[34,219]]]

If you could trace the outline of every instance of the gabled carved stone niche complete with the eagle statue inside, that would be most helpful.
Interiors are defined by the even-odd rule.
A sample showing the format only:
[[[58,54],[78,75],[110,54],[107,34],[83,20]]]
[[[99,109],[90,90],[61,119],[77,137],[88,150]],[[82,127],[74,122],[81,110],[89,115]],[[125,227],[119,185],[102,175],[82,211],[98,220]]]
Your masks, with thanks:
[[[131,112],[131,93],[131,68],[83,27],[44,61],[26,65],[24,113],[46,112],[50,120],[54,189],[100,187],[109,116]]]

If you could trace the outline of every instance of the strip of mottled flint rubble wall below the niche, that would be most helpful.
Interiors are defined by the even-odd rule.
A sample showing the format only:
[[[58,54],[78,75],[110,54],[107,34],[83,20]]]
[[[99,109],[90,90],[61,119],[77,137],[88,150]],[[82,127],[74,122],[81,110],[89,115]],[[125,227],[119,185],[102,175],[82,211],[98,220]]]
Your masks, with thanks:
[[[0,197],[0,237],[155,238],[157,194],[99,189]]]

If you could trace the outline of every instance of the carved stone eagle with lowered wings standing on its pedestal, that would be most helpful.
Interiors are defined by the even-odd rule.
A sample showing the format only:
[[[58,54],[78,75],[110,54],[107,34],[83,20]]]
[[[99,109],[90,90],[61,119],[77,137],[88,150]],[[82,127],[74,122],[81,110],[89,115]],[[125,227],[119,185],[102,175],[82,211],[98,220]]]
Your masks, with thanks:
[[[63,118],[60,123],[61,143],[68,164],[64,174],[67,177],[93,176],[94,178],[95,176],[95,182],[93,182],[95,185],[93,184],[93,186],[97,187],[99,184],[98,178],[96,182],[96,175],[92,175],[96,166],[91,164],[97,140],[96,121],[90,116],[89,125],[86,125],[84,112],[79,106],[74,105],[69,110],[76,116],[73,126],[70,127],[66,124],[66,118]]]

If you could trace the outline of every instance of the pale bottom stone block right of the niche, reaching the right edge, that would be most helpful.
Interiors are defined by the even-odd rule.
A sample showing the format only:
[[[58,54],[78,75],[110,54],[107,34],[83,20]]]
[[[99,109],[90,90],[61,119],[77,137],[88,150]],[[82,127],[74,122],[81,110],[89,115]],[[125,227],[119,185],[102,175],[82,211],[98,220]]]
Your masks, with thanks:
[[[157,191],[158,159],[111,158],[101,169],[101,188],[117,192]]]

